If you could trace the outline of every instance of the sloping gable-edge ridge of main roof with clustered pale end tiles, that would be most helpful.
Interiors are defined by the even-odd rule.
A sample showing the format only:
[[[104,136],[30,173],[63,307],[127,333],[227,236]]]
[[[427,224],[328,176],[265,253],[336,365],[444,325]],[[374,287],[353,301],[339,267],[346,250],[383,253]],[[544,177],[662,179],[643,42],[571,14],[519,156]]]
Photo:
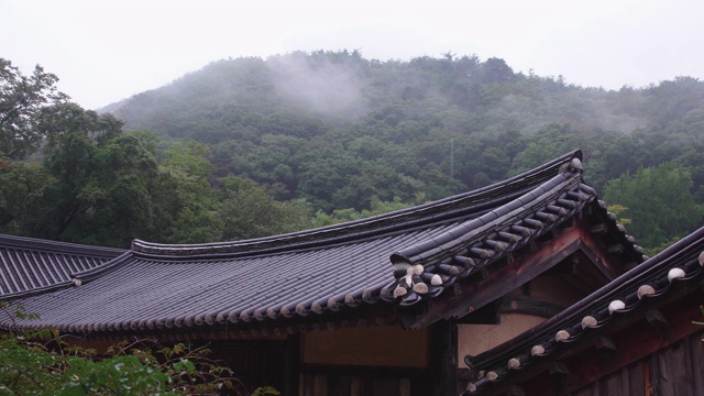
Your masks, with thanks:
[[[560,173],[502,207],[392,255],[382,298],[413,305],[526,245],[596,199],[581,172]]]

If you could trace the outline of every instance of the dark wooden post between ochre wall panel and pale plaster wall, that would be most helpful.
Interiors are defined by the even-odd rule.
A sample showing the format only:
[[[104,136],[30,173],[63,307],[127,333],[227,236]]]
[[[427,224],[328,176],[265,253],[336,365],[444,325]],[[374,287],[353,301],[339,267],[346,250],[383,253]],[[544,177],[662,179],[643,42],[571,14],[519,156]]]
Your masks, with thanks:
[[[458,326],[450,320],[440,320],[430,326],[428,332],[429,375],[432,395],[458,394]]]

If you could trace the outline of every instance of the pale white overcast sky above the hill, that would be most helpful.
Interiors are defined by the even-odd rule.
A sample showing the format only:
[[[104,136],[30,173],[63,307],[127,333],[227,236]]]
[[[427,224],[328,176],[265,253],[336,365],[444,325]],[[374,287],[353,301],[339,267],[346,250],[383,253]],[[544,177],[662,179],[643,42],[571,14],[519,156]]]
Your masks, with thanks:
[[[360,50],[408,61],[451,52],[583,87],[704,79],[704,1],[0,0],[0,57],[40,64],[87,109],[212,61]]]

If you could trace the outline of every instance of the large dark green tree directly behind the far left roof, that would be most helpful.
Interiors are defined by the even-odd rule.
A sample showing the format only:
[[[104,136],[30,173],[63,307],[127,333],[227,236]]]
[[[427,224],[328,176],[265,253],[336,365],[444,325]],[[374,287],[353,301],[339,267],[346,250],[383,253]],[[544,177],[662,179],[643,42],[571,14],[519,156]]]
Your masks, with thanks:
[[[166,239],[180,205],[152,134],[124,133],[114,117],[74,103],[43,108],[34,124],[52,134],[42,163],[0,169],[0,230],[120,248]]]

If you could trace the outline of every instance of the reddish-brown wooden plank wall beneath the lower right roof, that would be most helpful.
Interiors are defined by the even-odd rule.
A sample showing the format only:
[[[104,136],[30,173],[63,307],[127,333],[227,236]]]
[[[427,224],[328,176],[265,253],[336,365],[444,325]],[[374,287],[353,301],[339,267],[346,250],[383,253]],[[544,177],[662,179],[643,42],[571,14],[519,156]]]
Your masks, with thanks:
[[[690,336],[570,395],[704,395],[704,342]]]

